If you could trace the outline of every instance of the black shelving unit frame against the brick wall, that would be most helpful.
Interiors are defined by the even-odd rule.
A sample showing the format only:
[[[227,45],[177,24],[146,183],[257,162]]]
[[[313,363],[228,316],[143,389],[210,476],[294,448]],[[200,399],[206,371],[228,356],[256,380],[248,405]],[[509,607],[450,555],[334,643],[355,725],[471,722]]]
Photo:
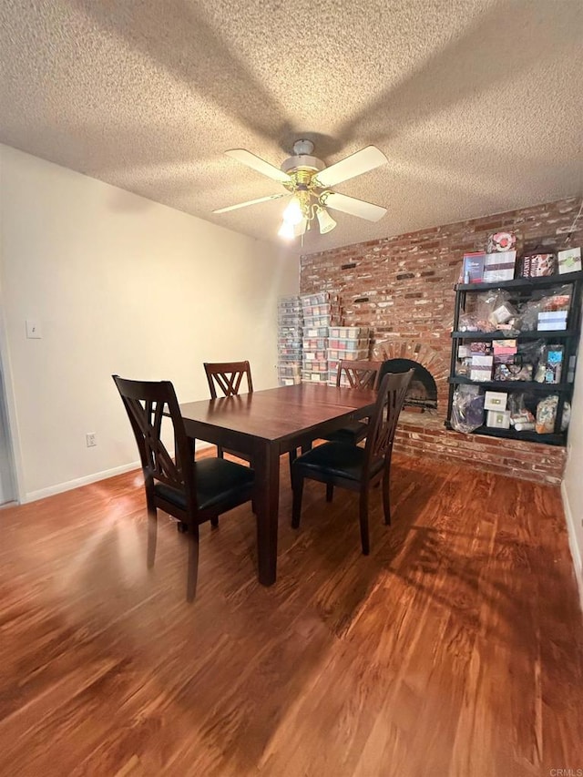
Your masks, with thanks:
[[[535,297],[538,291],[546,291],[560,286],[571,287],[571,300],[568,310],[568,329],[554,332],[469,332],[459,329],[460,314],[465,311],[468,294],[501,289],[507,291],[511,302],[527,302]],[[454,400],[455,387],[458,385],[477,385],[480,388],[512,392],[532,392],[533,394],[557,394],[557,417],[554,433],[551,435],[537,435],[536,432],[517,432],[514,429],[496,429],[481,426],[472,434],[489,435],[492,437],[505,437],[513,440],[526,440],[533,443],[546,443],[547,445],[566,445],[567,431],[561,432],[561,420],[565,402],[571,401],[573,394],[573,381],[575,370],[569,370],[571,359],[577,358],[579,332],[581,326],[581,291],[583,288],[583,271],[569,272],[564,275],[549,275],[543,278],[516,278],[514,281],[502,281],[498,283],[458,283],[455,286],[455,315],[454,331],[452,332],[452,356],[449,374],[449,402],[447,406],[447,420],[445,425],[452,428],[450,418]],[[472,381],[465,375],[455,374],[458,346],[462,342],[493,340],[544,340],[545,342],[561,342],[564,346],[563,369],[559,383],[537,383],[535,381]],[[569,380],[569,377],[571,380]]]

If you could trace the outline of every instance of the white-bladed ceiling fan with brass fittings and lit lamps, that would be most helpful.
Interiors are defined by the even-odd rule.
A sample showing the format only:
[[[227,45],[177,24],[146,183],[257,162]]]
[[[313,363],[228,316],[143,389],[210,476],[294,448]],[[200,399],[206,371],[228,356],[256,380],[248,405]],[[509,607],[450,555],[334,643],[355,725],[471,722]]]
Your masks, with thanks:
[[[213,213],[227,213],[230,210],[246,208],[248,205],[257,205],[270,199],[292,198],[289,205],[283,211],[278,235],[281,238],[291,240],[305,234],[312,228],[313,220],[318,220],[321,234],[334,229],[336,221],[328,212],[328,209],[341,210],[358,216],[360,219],[378,221],[383,218],[386,208],[365,202],[363,199],[355,199],[337,191],[331,187],[345,180],[362,175],[384,165],[388,159],[383,151],[375,146],[367,146],[356,151],[351,156],[341,159],[339,162],[327,168],[322,159],[312,157],[313,143],[311,140],[296,140],[293,144],[293,156],[285,159],[281,169],[266,162],[265,159],[251,154],[244,148],[233,148],[225,151],[228,157],[237,159],[247,167],[257,170],[262,175],[281,183],[286,191],[280,194],[270,194],[259,199],[250,199],[240,202],[238,205],[230,205],[228,208],[213,210]]]

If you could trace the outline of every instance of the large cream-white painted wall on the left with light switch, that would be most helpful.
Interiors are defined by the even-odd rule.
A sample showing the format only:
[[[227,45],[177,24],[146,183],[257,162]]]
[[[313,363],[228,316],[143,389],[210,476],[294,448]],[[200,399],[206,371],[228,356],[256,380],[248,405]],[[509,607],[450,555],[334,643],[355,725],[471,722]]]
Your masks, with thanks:
[[[21,499],[137,460],[112,373],[208,396],[202,363],[249,359],[277,385],[277,298],[299,262],[101,181],[0,146],[0,342]],[[26,339],[26,319],[42,339]],[[87,448],[86,433],[97,434]]]

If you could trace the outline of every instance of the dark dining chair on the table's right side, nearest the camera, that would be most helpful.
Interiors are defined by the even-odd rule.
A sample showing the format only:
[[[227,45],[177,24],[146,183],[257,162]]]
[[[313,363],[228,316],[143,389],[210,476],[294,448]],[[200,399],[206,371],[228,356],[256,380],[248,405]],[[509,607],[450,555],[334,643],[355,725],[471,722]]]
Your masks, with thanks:
[[[332,501],[334,486],[348,488],[360,495],[359,517],[363,554],[370,550],[368,504],[370,487],[382,482],[384,523],[391,523],[390,476],[394,432],[413,377],[407,373],[387,373],[379,387],[376,404],[368,424],[364,447],[354,443],[329,442],[317,445],[292,463],[292,527],[300,526],[304,479],[326,484],[326,501]]]

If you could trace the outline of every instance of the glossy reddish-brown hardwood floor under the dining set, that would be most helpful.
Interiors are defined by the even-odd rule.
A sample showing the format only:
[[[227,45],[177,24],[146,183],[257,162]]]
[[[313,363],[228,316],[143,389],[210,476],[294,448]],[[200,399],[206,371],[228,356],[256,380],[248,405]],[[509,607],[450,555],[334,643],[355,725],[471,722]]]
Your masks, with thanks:
[[[278,582],[250,506],[202,527],[199,588],[141,475],[0,512],[0,774],[531,777],[583,769],[583,619],[559,491],[395,457],[306,483]],[[557,773],[557,772],[555,772]],[[559,772],[560,773],[560,772]],[[574,773],[577,773],[574,771]]]

